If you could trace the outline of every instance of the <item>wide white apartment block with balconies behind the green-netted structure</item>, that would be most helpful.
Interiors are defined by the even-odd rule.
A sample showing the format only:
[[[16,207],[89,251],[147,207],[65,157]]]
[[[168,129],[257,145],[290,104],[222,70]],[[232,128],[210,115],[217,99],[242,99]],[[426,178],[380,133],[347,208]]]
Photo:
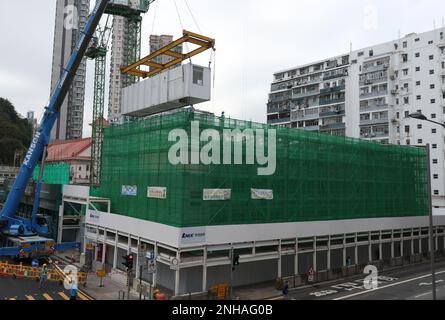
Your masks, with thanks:
[[[434,205],[445,207],[445,28],[274,74],[268,123],[431,149]]]

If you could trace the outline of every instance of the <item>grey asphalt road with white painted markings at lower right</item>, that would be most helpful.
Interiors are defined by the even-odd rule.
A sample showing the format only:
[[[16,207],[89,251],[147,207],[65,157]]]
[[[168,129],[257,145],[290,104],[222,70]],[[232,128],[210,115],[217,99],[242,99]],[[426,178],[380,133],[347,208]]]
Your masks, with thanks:
[[[437,265],[437,299],[445,300],[445,264]],[[379,274],[378,288],[366,290],[360,278],[298,289],[289,294],[294,300],[432,300],[429,265],[411,266]]]

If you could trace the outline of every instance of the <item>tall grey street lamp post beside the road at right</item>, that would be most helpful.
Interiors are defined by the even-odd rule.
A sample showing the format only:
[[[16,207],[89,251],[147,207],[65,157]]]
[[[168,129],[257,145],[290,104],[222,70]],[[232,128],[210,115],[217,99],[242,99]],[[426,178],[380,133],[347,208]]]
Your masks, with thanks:
[[[440,125],[445,128],[445,124],[429,120],[426,116],[424,116],[422,113],[413,113],[409,115],[410,118],[421,120],[421,121],[428,121],[437,125]],[[431,187],[431,149],[430,144],[426,145],[427,150],[427,158],[428,158],[428,206],[429,206],[429,223],[430,223],[430,258],[431,258],[431,280],[432,280],[432,287],[433,287],[433,300],[437,299],[437,290],[436,290],[436,271],[435,271],[435,241],[434,241],[434,216],[433,216],[433,199],[432,199],[432,187]]]

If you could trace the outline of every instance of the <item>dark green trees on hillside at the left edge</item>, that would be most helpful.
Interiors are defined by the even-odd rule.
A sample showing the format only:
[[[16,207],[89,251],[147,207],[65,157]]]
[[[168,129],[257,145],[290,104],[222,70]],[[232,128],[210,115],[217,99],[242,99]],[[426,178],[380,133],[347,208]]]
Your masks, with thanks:
[[[0,164],[14,165],[14,154],[26,151],[31,134],[28,120],[17,114],[9,100],[0,98]]]

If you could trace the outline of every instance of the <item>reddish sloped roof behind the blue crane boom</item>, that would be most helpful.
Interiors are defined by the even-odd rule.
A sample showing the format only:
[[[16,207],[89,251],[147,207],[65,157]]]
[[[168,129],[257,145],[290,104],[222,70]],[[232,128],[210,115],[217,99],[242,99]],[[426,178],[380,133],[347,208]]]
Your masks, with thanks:
[[[91,160],[90,156],[81,155],[92,144],[91,138],[54,141],[48,146],[47,162],[61,162],[70,160]]]

